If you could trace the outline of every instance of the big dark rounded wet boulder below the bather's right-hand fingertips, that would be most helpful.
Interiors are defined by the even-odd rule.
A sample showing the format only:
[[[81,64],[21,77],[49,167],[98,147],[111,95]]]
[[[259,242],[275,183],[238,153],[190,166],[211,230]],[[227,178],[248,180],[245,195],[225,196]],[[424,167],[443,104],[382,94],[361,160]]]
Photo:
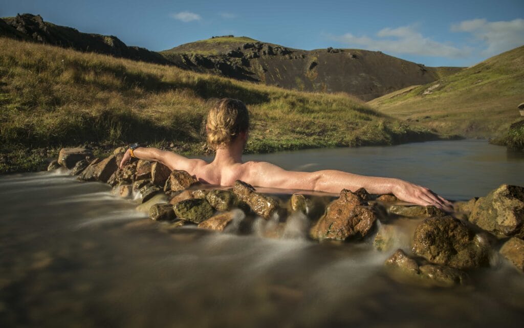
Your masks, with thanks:
[[[464,222],[451,217],[426,218],[415,229],[413,253],[436,264],[459,269],[489,265],[489,243]]]

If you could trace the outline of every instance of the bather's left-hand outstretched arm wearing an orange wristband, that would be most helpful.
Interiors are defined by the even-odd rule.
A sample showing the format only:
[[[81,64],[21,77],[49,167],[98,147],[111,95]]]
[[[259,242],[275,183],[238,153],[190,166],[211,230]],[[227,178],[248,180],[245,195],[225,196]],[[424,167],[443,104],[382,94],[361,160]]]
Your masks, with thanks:
[[[153,147],[138,147],[133,150],[133,154],[136,158],[145,159],[149,161],[157,161],[167,166],[170,170],[184,170],[192,174],[195,166],[199,165],[200,162],[204,162],[201,159],[189,159],[187,157],[174,154],[172,151],[160,150]],[[131,158],[129,149],[124,154],[122,161],[120,162],[120,168]]]

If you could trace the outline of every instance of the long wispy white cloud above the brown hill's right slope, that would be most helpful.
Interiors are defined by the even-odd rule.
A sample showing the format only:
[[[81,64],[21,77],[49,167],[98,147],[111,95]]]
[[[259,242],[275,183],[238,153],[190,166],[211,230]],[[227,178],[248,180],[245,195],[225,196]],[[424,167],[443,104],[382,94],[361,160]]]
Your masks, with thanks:
[[[419,56],[464,58],[471,53],[470,48],[457,48],[453,45],[424,37],[414,26],[384,28],[377,32],[376,38],[365,35],[358,37],[347,33],[342,36],[331,36],[331,39],[369,50],[407,53]]]

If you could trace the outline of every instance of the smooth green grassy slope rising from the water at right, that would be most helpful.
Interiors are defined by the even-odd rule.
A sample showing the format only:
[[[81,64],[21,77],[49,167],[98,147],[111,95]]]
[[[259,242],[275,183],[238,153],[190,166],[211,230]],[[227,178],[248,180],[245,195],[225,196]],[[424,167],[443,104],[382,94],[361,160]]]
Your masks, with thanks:
[[[495,137],[519,119],[524,101],[524,46],[459,73],[399,90],[368,104],[443,133]]]

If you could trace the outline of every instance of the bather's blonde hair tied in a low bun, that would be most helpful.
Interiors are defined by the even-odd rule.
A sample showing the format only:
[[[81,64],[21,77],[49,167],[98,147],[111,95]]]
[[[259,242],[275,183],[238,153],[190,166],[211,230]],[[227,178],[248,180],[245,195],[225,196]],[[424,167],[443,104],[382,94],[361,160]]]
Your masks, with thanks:
[[[249,129],[249,113],[243,102],[223,98],[211,108],[206,130],[208,144],[214,149],[230,144]]]

